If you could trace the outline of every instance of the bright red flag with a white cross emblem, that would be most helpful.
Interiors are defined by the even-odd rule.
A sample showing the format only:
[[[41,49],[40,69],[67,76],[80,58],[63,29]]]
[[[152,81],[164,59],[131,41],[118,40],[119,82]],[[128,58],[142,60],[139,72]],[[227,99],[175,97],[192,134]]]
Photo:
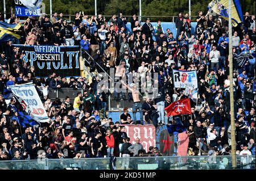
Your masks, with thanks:
[[[190,100],[180,99],[171,103],[168,107],[164,108],[167,111],[167,116],[186,115],[191,114]]]

